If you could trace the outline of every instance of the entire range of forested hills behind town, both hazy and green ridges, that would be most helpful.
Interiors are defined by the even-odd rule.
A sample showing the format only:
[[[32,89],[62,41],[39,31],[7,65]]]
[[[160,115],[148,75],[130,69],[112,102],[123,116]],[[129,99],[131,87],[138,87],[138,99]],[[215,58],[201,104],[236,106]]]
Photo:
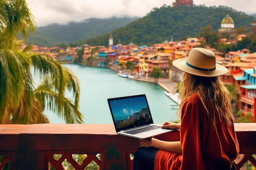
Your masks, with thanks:
[[[253,16],[227,6],[171,7],[163,5],[160,8],[153,8],[146,16],[139,19],[91,18],[85,22],[38,27],[35,34],[29,36],[25,42],[40,46],[54,46],[61,43],[72,46],[82,44],[107,46],[110,32],[112,32],[114,44],[117,44],[120,39],[123,44],[133,42],[137,45],[150,46],[171,40],[171,36],[175,41],[196,37],[200,29],[207,25],[211,25],[213,31],[218,31],[227,13],[233,18],[236,28],[247,27],[251,25],[251,22],[256,22]]]

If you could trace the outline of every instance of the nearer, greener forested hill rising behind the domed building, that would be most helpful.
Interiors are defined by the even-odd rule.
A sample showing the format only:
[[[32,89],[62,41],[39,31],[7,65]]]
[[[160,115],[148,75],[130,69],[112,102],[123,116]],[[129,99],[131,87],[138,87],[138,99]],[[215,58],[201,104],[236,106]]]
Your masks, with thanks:
[[[229,14],[235,22],[235,27],[250,26],[256,18],[244,12],[236,11],[227,6],[206,7],[204,5],[193,7],[162,6],[154,8],[145,17],[130,22],[126,26],[112,31],[114,44],[121,40],[122,44],[133,42],[137,45],[152,45],[165,40],[180,40],[182,37],[196,37],[201,28],[206,25],[213,26],[218,31],[222,19]],[[110,33],[90,38],[83,44],[108,45]]]

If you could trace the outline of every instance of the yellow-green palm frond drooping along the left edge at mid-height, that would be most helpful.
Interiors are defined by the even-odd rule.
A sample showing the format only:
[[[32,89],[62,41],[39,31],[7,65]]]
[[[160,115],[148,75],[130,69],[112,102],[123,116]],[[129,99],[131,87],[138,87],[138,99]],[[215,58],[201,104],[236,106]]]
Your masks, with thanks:
[[[11,50],[0,49],[0,116],[7,103],[18,107],[24,87],[24,70],[29,69],[29,59]]]

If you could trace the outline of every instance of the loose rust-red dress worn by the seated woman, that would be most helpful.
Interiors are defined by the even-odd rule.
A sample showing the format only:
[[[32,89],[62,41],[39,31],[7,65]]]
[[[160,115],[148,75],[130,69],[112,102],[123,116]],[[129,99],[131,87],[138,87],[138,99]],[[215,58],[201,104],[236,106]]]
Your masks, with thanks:
[[[239,152],[234,124],[215,130],[197,94],[182,108],[180,141],[182,155],[159,150],[155,170],[230,170]]]

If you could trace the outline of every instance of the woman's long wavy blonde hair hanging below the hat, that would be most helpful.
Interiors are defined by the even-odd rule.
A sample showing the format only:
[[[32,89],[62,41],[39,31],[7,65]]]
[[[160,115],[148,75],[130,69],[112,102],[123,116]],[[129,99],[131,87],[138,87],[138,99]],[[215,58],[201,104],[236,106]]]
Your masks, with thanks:
[[[231,110],[229,91],[222,83],[220,76],[200,77],[185,72],[180,83],[179,114],[181,114],[182,106],[187,97],[195,93],[200,97],[207,116],[215,129],[218,122],[222,122],[225,126],[232,124],[234,116]]]

